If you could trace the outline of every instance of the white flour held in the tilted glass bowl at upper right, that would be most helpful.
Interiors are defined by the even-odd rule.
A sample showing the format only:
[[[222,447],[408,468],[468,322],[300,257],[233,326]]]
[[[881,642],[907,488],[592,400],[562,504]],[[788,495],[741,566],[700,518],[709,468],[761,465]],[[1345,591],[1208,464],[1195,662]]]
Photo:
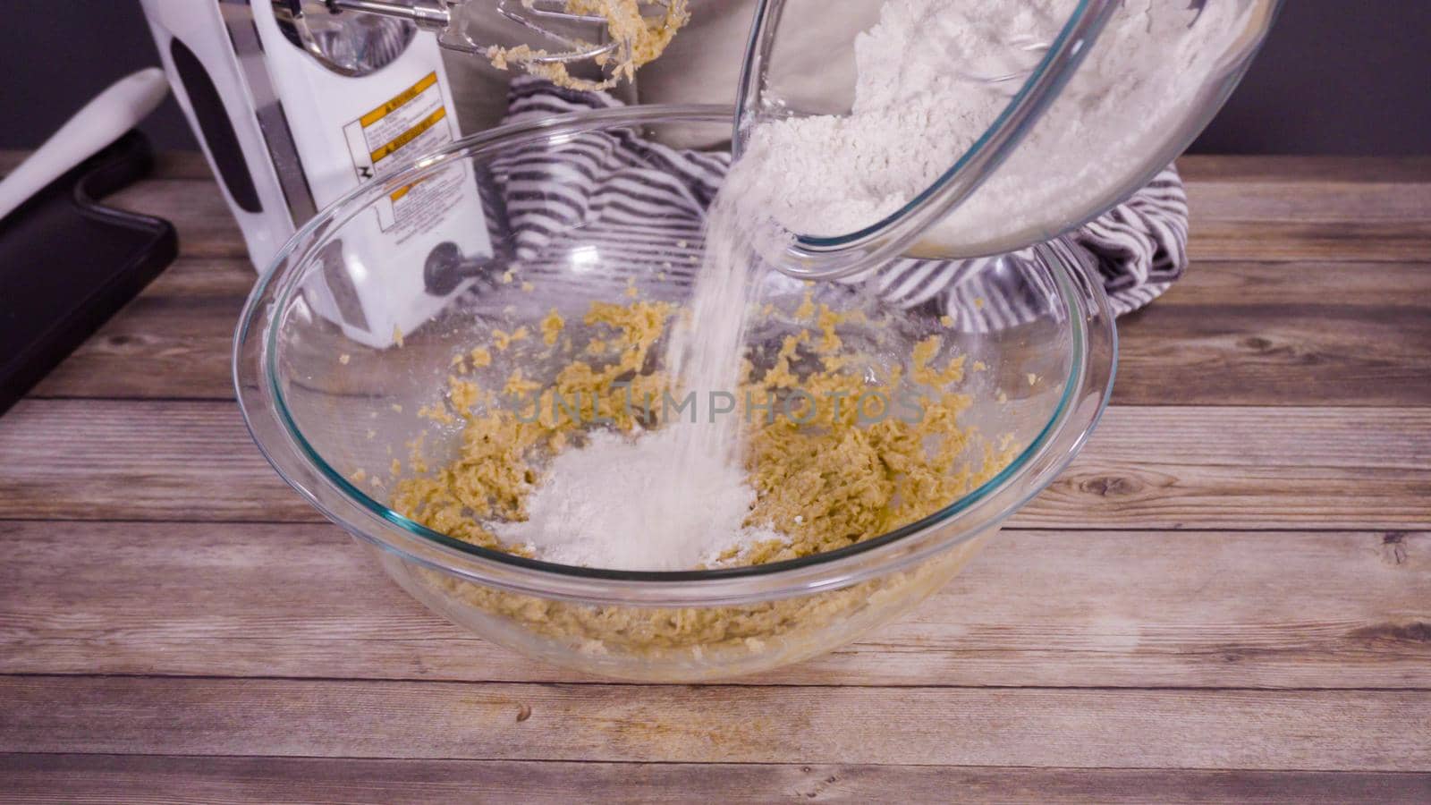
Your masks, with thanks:
[[[1052,236],[1090,203],[1125,195],[1145,159],[1182,122],[1203,82],[1246,26],[1249,6],[1125,0],[1093,53],[1000,173],[923,244],[960,254],[1006,251]],[[889,0],[856,40],[850,115],[754,127],[743,160],[783,182],[774,216],[809,235],[876,223],[930,186],[1009,103],[1075,0]],[[1039,239],[1042,239],[1039,238]]]

